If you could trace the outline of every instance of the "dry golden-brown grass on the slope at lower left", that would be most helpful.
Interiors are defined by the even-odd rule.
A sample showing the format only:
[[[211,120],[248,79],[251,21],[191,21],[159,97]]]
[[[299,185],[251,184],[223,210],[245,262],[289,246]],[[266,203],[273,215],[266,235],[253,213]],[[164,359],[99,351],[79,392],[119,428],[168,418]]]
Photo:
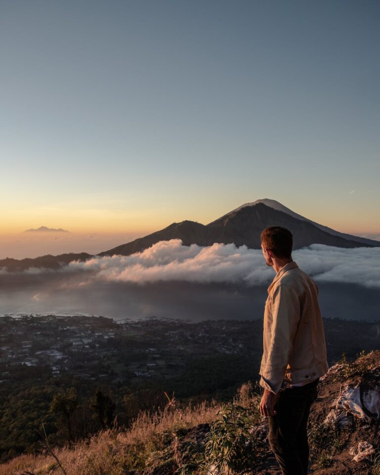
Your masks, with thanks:
[[[54,449],[54,454],[67,475],[122,475],[142,469],[152,452],[164,448],[165,436],[181,428],[210,424],[221,405],[214,400],[184,408],[168,404],[161,412],[140,413],[128,430],[101,430],[73,449],[68,446]],[[0,465],[0,475],[49,475],[56,461],[48,452],[40,455],[21,455]]]

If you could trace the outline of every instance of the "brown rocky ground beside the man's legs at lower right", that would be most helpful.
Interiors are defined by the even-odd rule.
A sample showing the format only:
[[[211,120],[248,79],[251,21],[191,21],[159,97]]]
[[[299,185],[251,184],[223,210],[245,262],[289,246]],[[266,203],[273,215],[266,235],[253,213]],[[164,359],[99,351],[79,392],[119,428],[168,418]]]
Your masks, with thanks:
[[[372,473],[371,448],[380,445],[380,351],[355,362],[332,366],[318,385],[318,399],[309,417],[311,464],[318,475],[367,475]],[[280,474],[275,457],[268,451],[268,423],[261,437],[257,475]],[[354,454],[358,452],[358,461]],[[352,453],[353,452],[353,453]],[[372,453],[372,458],[373,458]]]

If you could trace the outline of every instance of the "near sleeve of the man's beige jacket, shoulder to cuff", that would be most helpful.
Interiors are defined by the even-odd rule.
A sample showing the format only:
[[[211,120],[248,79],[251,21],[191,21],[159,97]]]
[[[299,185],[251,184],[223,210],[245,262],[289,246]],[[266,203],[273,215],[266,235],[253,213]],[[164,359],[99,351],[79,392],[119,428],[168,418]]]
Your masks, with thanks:
[[[260,385],[277,394],[282,386],[301,318],[301,304],[291,285],[280,284],[272,295],[272,327],[268,357]]]

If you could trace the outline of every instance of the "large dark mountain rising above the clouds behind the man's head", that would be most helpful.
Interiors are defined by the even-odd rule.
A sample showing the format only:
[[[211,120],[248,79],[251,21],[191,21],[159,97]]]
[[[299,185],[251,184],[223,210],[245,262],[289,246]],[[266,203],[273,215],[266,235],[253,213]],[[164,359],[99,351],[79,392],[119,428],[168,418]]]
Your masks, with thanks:
[[[346,248],[380,246],[379,241],[350,235],[344,235],[346,238],[343,238],[340,233],[333,230],[331,231],[335,234],[329,233],[326,230],[330,228],[326,228],[326,230],[321,229],[319,227],[321,225],[317,226],[302,216],[300,216],[302,219],[296,218],[290,213],[267,206],[261,200],[255,203],[242,205],[207,225],[187,220],[181,223],[173,223],[160,231],[114,247],[108,251],[100,252],[97,255],[111,256],[113,254],[121,254],[128,256],[134,252],[140,252],[158,241],[174,238],[182,239],[183,244],[188,246],[190,244],[210,246],[214,242],[221,242],[223,244],[234,243],[237,246],[245,244],[250,249],[260,249],[261,231],[268,226],[283,226],[287,228],[293,235],[294,249],[309,246],[310,244],[326,244],[328,246]],[[278,204],[280,205],[280,203]]]

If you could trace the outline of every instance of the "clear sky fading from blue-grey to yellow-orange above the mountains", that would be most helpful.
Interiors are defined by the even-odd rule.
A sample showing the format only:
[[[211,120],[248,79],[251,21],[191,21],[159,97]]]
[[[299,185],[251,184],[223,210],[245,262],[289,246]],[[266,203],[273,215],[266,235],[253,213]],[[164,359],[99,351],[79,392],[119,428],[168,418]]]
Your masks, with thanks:
[[[379,42],[378,1],[1,0],[0,237],[262,198],[379,235]]]

